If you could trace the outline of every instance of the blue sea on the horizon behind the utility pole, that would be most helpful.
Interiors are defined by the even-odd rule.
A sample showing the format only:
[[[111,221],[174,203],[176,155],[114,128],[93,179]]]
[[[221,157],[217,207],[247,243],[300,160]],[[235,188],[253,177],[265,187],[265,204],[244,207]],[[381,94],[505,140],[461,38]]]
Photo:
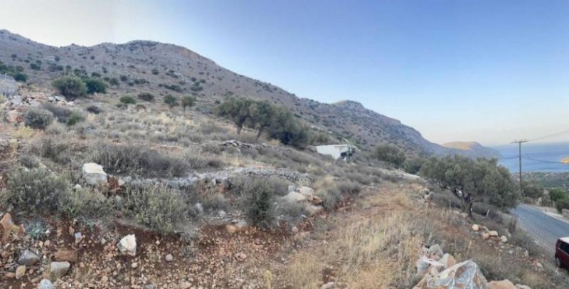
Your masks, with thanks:
[[[510,172],[519,171],[518,144],[494,147],[501,153],[499,163]],[[555,144],[521,144],[522,172],[569,172],[569,164],[561,159],[569,157],[569,142]]]

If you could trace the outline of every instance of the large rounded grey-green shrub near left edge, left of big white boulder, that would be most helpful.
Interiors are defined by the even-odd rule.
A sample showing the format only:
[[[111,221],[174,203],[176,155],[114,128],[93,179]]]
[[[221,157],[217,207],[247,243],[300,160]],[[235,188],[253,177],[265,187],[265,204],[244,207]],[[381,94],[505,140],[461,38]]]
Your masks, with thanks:
[[[66,201],[69,183],[43,169],[18,169],[8,180],[9,202],[18,211],[59,211]]]

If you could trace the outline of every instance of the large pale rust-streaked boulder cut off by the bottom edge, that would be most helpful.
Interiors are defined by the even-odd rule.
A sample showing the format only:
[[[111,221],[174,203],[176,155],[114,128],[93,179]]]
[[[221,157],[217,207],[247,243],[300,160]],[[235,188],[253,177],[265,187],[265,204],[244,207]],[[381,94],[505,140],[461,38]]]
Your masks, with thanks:
[[[437,277],[427,280],[421,289],[487,288],[486,278],[477,263],[472,260],[455,264],[443,270]]]

